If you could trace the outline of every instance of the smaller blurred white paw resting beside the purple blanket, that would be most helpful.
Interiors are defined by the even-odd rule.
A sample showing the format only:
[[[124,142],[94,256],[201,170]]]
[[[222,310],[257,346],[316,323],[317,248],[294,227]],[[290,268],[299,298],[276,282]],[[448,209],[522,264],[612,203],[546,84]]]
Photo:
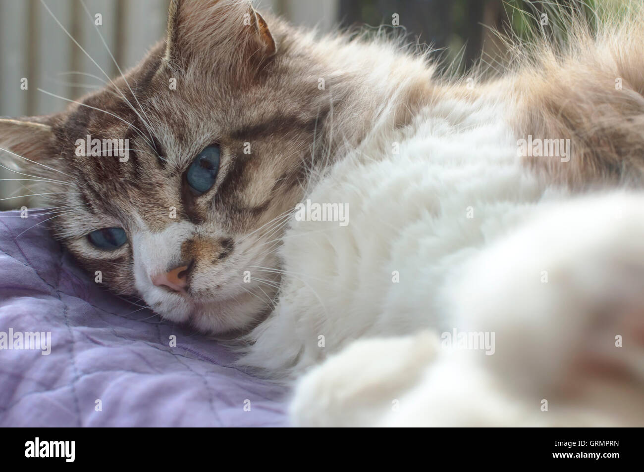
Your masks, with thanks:
[[[294,426],[375,426],[397,410],[439,349],[433,332],[355,341],[312,368],[291,403]]]

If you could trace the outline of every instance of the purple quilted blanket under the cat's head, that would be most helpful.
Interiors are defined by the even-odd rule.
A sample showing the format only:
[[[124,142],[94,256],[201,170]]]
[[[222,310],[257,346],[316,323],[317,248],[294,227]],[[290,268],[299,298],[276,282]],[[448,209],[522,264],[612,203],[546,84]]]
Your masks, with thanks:
[[[0,213],[0,426],[286,426],[285,388],[107,293],[46,217],[17,216]]]

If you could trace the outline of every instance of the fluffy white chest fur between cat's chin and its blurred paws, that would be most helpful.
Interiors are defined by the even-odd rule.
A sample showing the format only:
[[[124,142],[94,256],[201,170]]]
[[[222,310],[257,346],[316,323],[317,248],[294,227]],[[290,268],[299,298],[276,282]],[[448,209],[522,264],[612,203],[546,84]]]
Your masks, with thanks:
[[[297,375],[357,338],[451,326],[442,288],[544,195],[500,104],[446,100],[392,129],[376,125],[307,195],[346,215],[294,219],[279,304],[244,364]]]

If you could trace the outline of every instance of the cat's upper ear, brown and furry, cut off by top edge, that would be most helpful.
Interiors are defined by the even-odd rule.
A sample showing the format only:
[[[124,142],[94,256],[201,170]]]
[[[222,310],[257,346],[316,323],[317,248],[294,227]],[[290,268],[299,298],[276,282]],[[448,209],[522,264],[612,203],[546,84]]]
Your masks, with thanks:
[[[263,64],[277,47],[265,19],[249,0],[171,0],[165,60],[171,68],[224,71]]]

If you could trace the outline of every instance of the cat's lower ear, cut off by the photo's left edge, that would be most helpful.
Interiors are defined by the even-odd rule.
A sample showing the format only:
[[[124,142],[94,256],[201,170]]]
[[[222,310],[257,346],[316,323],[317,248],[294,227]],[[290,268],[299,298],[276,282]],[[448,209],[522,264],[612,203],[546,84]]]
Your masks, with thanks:
[[[12,119],[0,118],[0,150],[4,154],[3,165],[23,170],[42,167],[37,164],[46,160],[54,141],[52,127],[40,117]]]

